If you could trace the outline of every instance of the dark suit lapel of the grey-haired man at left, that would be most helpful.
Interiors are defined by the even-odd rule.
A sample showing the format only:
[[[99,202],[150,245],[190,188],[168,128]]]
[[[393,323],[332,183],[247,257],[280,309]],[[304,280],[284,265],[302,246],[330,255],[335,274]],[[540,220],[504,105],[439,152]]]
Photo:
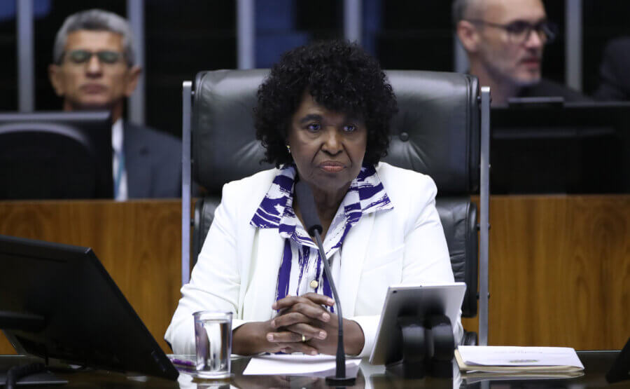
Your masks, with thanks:
[[[149,147],[141,134],[142,130],[135,125],[125,123],[123,149],[129,198],[148,198],[151,193]]]

